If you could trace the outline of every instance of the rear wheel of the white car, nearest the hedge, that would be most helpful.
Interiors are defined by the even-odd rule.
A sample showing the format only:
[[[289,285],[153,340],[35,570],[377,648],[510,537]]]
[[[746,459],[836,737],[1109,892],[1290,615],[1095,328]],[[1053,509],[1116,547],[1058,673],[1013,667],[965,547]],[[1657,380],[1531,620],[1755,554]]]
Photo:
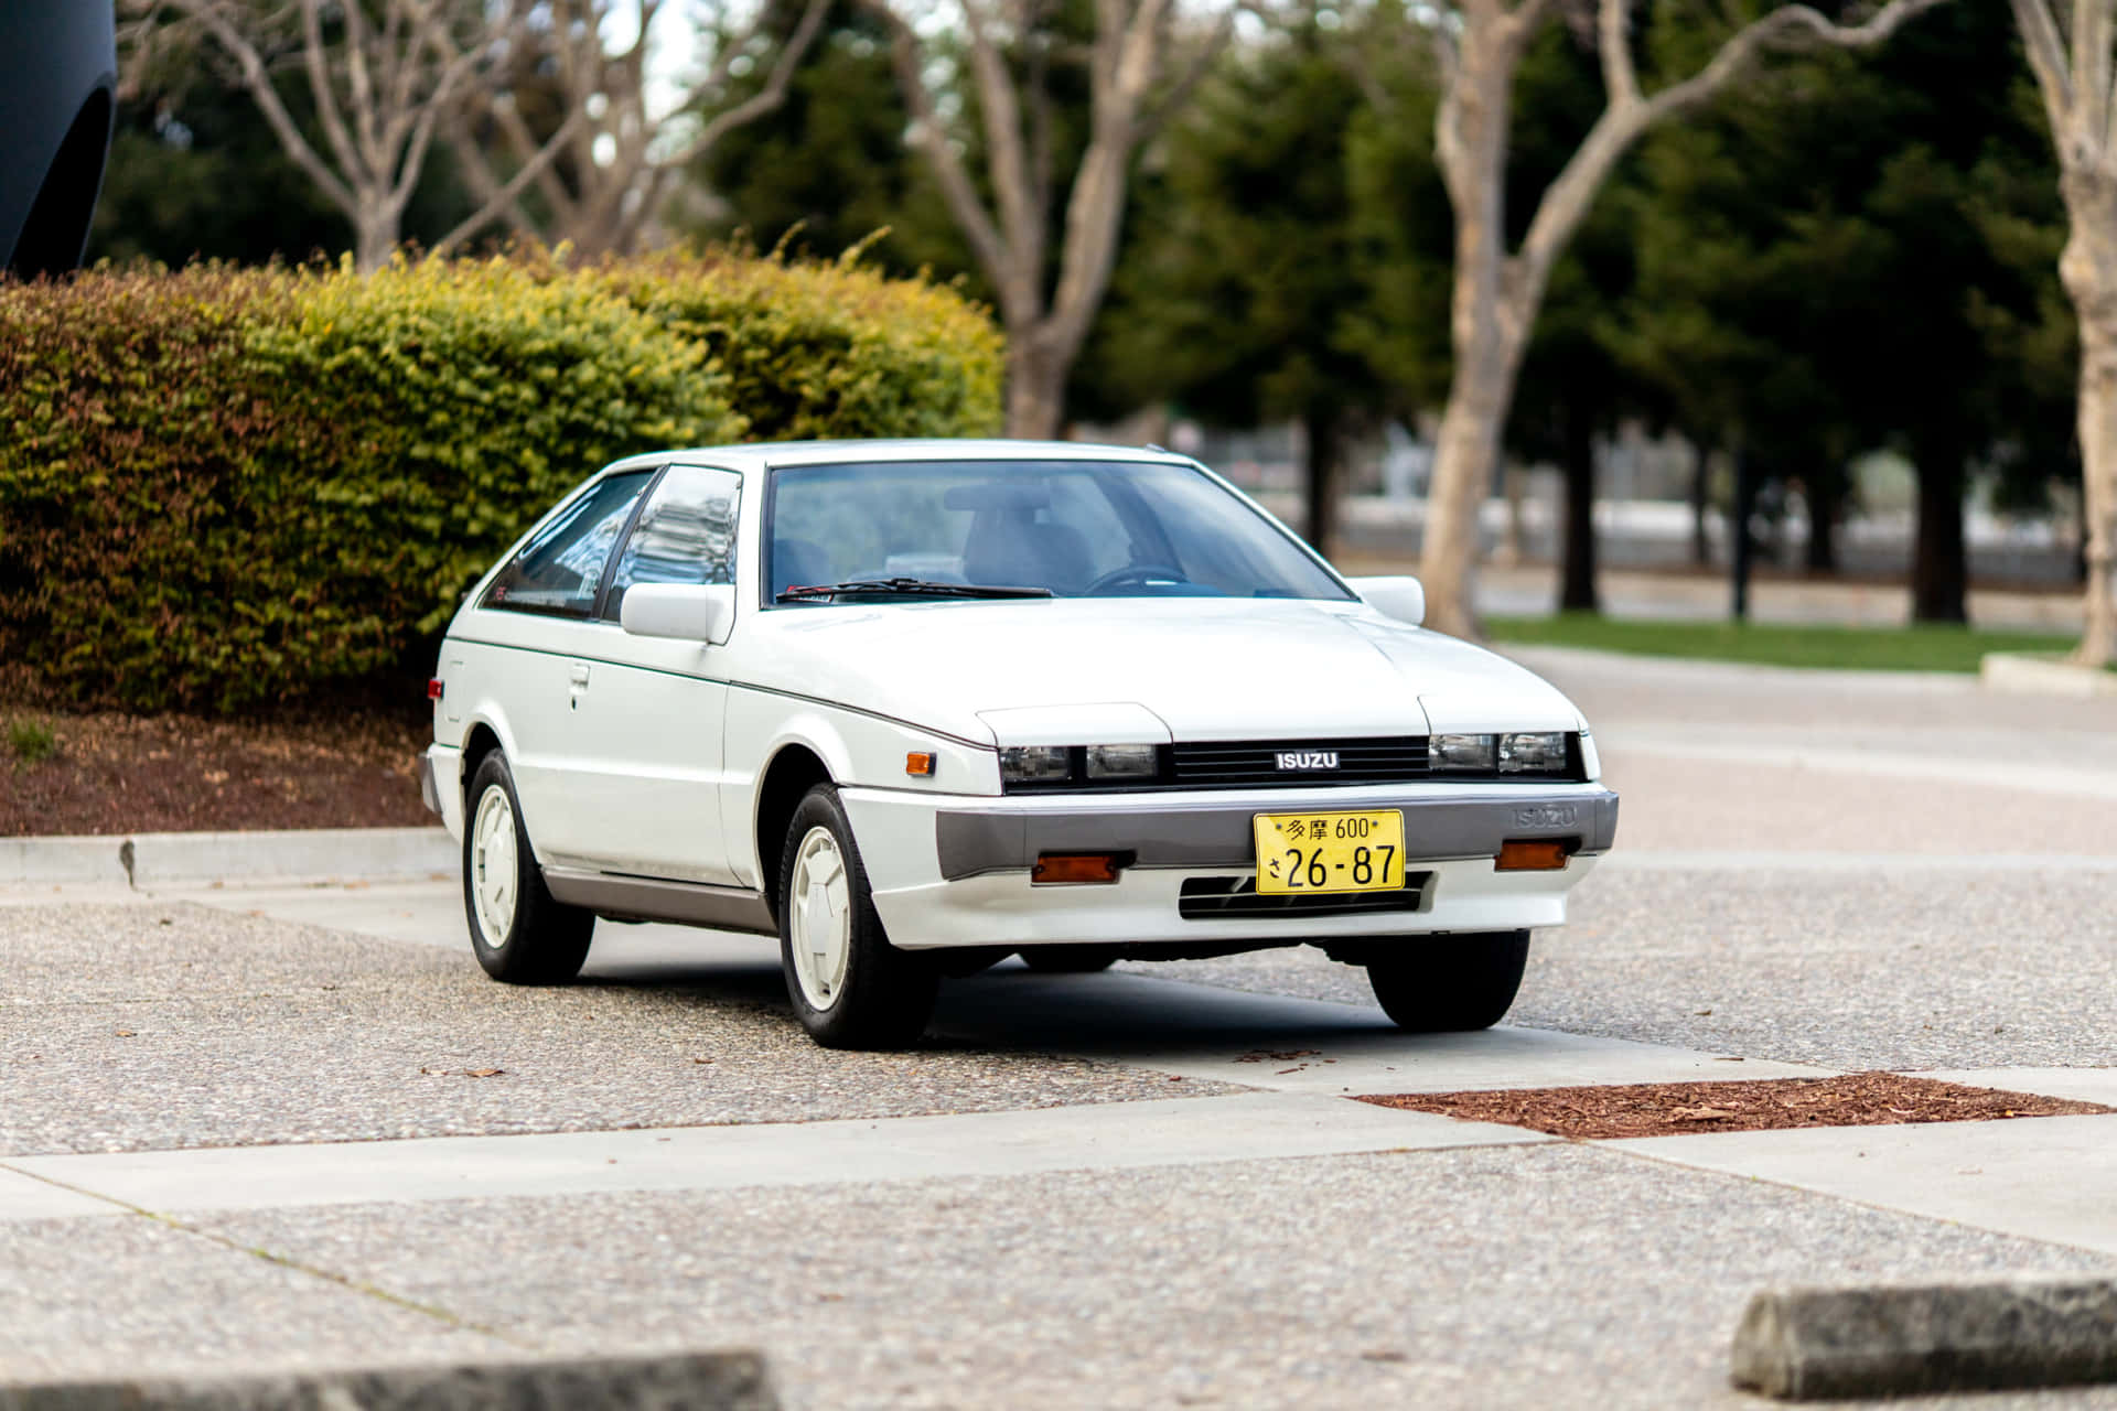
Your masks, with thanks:
[[[580,973],[595,914],[555,901],[529,848],[514,774],[497,749],[470,778],[464,821],[464,914],[470,950],[493,979],[565,984]]]

